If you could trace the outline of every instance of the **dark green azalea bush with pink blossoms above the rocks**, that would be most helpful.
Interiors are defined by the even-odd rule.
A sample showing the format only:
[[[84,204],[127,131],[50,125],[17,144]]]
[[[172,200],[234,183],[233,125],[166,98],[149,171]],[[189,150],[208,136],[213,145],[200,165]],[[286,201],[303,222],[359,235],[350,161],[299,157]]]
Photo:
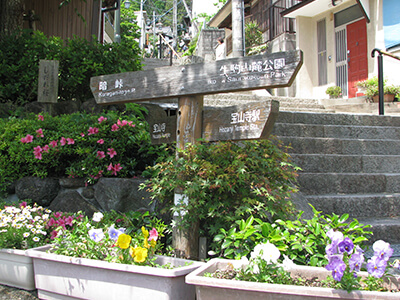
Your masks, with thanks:
[[[139,110],[136,106],[131,112]],[[140,114],[116,112],[44,115],[43,121],[36,115],[0,119],[1,190],[25,176],[82,177],[93,182],[101,176],[140,175],[163,151],[150,144],[147,127]]]

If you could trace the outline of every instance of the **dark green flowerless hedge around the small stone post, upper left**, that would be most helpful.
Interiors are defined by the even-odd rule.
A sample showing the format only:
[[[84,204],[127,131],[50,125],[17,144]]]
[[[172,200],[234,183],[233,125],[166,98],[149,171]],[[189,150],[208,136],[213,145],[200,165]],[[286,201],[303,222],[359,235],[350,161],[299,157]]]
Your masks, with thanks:
[[[63,43],[39,31],[22,31],[0,40],[0,102],[18,105],[37,100],[39,61],[59,60],[59,98],[92,98],[90,77],[141,68],[137,43],[102,45],[78,37]]]

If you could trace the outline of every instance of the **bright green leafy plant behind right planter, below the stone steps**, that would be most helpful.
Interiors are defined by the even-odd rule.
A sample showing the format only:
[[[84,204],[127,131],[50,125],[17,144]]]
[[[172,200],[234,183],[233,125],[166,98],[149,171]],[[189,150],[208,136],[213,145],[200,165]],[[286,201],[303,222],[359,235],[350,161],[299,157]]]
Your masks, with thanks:
[[[301,214],[297,220],[274,223],[250,217],[246,221],[236,221],[228,231],[221,229],[214,237],[214,251],[225,258],[240,259],[248,256],[255,245],[269,241],[296,264],[321,267],[327,264],[325,248],[329,238],[326,232],[330,229],[340,230],[360,247],[364,247],[362,243],[371,236],[369,225],[360,224],[356,219],[347,222],[348,218],[348,214],[322,215],[315,209],[309,220],[301,219]]]

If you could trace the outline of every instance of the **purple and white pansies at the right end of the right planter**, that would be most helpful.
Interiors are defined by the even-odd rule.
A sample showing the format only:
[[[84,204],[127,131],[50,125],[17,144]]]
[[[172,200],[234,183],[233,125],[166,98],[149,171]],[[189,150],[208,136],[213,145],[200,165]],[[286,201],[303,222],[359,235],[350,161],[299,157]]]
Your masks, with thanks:
[[[359,246],[354,246],[353,241],[344,237],[340,231],[330,230],[327,236],[331,239],[331,244],[326,247],[326,254],[329,263],[325,267],[332,271],[332,277],[337,281],[337,287],[347,291],[359,289],[361,278],[357,272],[361,270],[364,263],[364,251]],[[376,284],[385,274],[390,256],[393,249],[389,243],[382,240],[376,241],[373,246],[374,256],[367,262],[367,271],[369,278],[364,283]],[[375,279],[374,279],[375,278]]]

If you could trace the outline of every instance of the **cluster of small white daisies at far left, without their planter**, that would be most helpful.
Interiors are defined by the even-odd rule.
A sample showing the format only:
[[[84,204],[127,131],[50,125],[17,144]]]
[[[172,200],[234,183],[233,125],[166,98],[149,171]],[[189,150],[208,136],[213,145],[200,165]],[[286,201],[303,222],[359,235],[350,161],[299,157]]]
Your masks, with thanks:
[[[29,249],[46,244],[49,216],[48,209],[36,204],[5,206],[0,211],[0,248]]]

